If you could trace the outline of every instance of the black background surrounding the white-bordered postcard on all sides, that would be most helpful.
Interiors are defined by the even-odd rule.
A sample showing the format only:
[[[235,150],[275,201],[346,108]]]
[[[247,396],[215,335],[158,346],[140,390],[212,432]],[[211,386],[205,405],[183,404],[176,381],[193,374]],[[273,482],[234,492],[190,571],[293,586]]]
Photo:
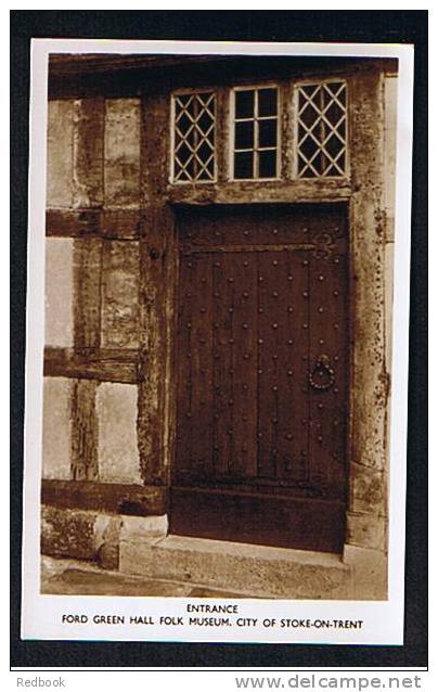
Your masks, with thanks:
[[[403,646],[21,641],[21,539],[29,49],[31,38],[342,41],[415,47],[409,439]],[[427,12],[426,11],[12,11],[11,12],[11,665],[379,667],[427,665]]]

